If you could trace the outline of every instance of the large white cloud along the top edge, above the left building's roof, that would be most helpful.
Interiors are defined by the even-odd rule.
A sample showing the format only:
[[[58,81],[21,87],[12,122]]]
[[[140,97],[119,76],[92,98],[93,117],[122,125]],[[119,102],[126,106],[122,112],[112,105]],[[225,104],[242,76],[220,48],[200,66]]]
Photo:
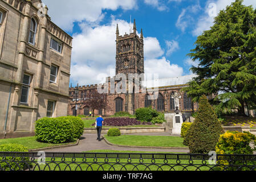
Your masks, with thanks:
[[[48,14],[52,21],[64,30],[72,31],[74,22],[97,22],[102,17],[102,10],[130,10],[137,7],[137,0],[43,0],[49,8]]]

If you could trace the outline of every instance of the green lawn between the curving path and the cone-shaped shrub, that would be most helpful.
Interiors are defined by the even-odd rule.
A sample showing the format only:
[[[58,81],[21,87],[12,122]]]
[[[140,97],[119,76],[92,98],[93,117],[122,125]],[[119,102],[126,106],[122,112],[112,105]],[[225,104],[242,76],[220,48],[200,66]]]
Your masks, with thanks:
[[[113,144],[123,146],[151,146],[151,147],[186,147],[181,137],[169,136],[141,136],[141,135],[121,135],[118,137],[104,137]]]

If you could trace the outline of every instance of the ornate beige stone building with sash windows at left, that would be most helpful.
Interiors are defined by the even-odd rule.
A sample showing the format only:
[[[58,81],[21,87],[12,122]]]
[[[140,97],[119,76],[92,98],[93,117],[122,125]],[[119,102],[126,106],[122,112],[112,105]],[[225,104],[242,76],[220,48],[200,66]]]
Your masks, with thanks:
[[[0,0],[0,138],[67,115],[72,37],[40,0]]]

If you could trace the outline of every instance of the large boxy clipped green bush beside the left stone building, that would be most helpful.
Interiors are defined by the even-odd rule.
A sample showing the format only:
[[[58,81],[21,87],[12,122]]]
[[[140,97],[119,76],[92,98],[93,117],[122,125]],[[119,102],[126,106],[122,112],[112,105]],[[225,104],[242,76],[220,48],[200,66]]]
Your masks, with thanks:
[[[39,142],[64,143],[74,138],[71,117],[42,118],[35,122],[35,137]]]

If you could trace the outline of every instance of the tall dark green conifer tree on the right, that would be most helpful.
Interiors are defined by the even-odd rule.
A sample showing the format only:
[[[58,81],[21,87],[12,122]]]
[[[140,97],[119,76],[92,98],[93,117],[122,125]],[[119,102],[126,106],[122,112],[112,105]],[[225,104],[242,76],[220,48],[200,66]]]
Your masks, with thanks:
[[[237,109],[245,115],[245,106],[256,107],[256,10],[242,2],[220,11],[188,54],[199,65],[190,69],[197,77],[184,91],[194,102],[218,94],[210,101],[218,113]]]

